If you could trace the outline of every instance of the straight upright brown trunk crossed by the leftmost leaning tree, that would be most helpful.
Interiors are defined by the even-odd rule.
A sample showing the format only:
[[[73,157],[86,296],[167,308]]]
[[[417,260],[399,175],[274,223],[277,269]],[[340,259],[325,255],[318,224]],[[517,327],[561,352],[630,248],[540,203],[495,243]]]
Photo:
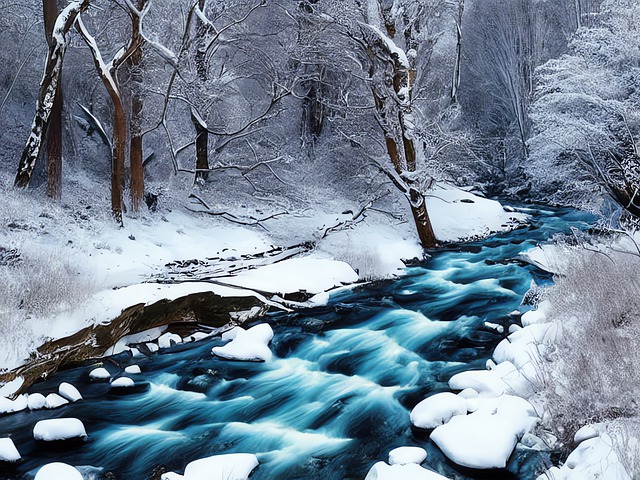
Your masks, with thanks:
[[[44,30],[49,49],[54,47],[53,29],[58,18],[57,0],[43,0]],[[62,71],[58,79],[49,128],[47,129],[47,195],[60,200],[62,195]]]

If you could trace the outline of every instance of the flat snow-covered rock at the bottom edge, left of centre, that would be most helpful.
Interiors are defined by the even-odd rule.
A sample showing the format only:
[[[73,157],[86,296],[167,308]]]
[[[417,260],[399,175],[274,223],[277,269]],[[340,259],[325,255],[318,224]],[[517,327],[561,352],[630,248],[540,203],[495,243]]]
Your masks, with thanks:
[[[229,453],[201,458],[187,465],[184,476],[165,473],[161,480],[246,480],[258,466],[252,453]]]

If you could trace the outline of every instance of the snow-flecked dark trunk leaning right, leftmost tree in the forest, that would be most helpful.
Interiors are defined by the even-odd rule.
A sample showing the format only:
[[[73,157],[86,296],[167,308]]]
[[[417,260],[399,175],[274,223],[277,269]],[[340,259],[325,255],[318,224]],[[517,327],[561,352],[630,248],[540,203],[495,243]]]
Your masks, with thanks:
[[[40,82],[36,114],[31,126],[31,134],[22,151],[18,172],[14,184],[26,187],[31,182],[35,169],[42,139],[47,133],[51,113],[54,109],[57,94],[60,92],[59,83],[62,74],[64,54],[69,45],[68,33],[78,15],[89,7],[89,0],[71,2],[60,12],[53,27],[52,45],[49,48],[44,67],[44,75]]]

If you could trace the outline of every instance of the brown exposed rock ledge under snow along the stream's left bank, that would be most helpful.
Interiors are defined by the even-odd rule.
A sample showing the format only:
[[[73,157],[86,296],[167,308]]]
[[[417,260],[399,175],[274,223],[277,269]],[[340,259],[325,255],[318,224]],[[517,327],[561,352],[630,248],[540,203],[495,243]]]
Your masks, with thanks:
[[[264,315],[269,309],[257,297],[223,297],[213,292],[192,293],[150,305],[138,303],[124,309],[109,323],[92,325],[68,337],[43,344],[24,365],[0,374],[0,384],[23,377],[24,383],[15,392],[17,395],[40,378],[46,378],[61,368],[104,356],[126,335],[175,322],[192,322],[194,328],[197,324],[223,327],[232,321],[230,312],[250,310],[256,306],[261,308],[258,316]]]

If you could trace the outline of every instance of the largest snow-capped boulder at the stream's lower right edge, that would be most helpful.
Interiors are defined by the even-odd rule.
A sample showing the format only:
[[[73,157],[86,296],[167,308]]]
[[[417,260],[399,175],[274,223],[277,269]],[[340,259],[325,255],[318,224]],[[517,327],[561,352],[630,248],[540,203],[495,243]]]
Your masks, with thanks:
[[[453,417],[431,433],[431,440],[463,467],[504,468],[518,442],[517,430],[508,419],[481,409]]]

